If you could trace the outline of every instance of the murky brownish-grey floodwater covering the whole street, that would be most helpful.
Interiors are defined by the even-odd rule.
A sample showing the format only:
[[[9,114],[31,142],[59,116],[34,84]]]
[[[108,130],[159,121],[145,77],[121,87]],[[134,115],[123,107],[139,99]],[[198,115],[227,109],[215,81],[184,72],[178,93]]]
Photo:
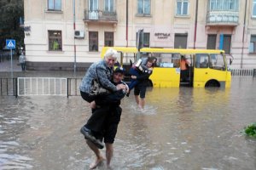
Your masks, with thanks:
[[[148,88],[143,112],[131,94],[122,100],[113,169],[256,169],[256,139],[241,133],[256,122],[255,87],[242,77],[230,89]],[[89,168],[94,156],[79,129],[90,109],[81,97],[0,101],[0,169]]]

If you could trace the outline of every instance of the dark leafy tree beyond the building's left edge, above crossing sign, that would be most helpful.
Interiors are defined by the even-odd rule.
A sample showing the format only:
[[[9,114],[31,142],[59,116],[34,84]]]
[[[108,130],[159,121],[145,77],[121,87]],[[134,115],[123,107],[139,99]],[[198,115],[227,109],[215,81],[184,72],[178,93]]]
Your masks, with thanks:
[[[20,17],[24,17],[23,0],[0,0],[0,50],[5,47],[6,39],[15,39],[16,48],[24,46]]]

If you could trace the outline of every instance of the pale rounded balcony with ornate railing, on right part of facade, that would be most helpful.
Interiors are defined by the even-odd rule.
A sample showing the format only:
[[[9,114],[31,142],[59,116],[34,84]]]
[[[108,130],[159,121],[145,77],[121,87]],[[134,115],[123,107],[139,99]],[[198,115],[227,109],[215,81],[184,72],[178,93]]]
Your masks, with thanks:
[[[207,26],[237,26],[239,14],[237,11],[208,11]]]

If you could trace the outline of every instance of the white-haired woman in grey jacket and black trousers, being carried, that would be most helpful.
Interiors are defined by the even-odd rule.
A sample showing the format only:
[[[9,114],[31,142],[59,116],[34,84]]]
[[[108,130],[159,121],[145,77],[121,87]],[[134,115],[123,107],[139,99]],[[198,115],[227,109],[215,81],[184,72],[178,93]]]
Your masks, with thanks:
[[[90,95],[90,84],[93,80],[98,79],[99,82],[102,83],[102,86],[108,89],[111,94],[115,94],[119,92],[119,90],[129,90],[128,86],[123,83],[115,85],[111,82],[113,78],[113,65],[116,61],[116,57],[117,51],[109,48],[104,55],[104,59],[98,63],[90,65],[80,85],[81,96],[84,100],[90,103],[93,113],[88,122],[80,129],[80,132],[84,134],[85,139],[90,140],[90,143],[95,144],[99,149],[102,149],[104,145],[102,144],[101,139],[97,138],[96,134],[102,133],[105,118],[110,110],[108,108],[109,104],[106,96]],[[109,96],[111,96],[111,94],[109,94]]]

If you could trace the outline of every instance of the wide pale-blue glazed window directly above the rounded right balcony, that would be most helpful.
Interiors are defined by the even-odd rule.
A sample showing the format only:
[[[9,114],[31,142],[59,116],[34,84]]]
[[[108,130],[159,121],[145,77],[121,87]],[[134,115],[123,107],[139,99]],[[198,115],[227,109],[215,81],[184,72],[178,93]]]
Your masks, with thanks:
[[[238,0],[209,0],[210,10],[238,11]]]

